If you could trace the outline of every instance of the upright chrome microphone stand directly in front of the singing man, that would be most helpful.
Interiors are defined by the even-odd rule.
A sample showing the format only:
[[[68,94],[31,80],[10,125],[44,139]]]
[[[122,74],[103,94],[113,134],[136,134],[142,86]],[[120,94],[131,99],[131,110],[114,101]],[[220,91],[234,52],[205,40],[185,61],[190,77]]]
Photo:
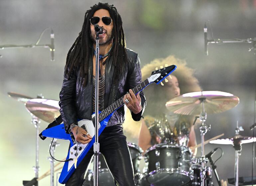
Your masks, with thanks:
[[[96,31],[96,62],[95,62],[95,142],[93,143],[94,159],[93,159],[93,185],[98,186],[99,172],[99,32]]]

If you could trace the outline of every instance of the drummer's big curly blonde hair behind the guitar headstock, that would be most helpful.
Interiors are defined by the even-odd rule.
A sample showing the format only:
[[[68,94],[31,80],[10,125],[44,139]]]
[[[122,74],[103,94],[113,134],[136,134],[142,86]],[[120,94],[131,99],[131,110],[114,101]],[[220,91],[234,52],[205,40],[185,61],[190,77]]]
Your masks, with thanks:
[[[175,64],[177,66],[177,69],[171,75],[177,77],[179,81],[179,87],[181,89],[181,94],[201,90],[198,80],[194,76],[194,70],[187,66],[185,60],[176,58],[174,55],[170,55],[166,58],[154,59],[150,63],[144,65],[141,69],[142,80],[148,78],[151,75],[151,72],[156,69],[156,67],[160,69],[160,66],[165,66],[165,64],[168,66]],[[162,82],[165,84],[165,81]],[[147,106],[143,115],[150,115],[154,117],[158,114],[161,114],[161,108],[164,108],[165,103],[169,101],[169,98],[164,96],[168,93],[165,86],[153,83],[153,85],[149,85],[143,91],[147,101]],[[131,135],[131,137],[136,138],[139,135],[141,122],[133,121],[130,115],[131,114],[127,112],[123,125],[124,132],[127,136]]]

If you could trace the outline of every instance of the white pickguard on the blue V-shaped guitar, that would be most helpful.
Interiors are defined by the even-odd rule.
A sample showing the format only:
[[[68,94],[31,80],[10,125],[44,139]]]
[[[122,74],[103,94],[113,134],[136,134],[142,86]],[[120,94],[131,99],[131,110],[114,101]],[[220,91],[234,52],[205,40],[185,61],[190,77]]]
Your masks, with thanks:
[[[95,135],[95,128],[93,126],[93,122],[91,120],[80,120],[78,121],[78,126],[81,127],[82,125],[85,126],[86,131],[90,134],[91,137],[94,137]],[[99,124],[99,128],[100,128],[100,124]],[[69,171],[69,169],[73,166],[74,162],[75,162],[75,158],[78,158],[81,153],[83,152],[83,150],[85,149],[85,147],[88,145],[88,143],[86,144],[74,144],[73,146],[70,147],[70,151],[69,151],[69,158],[72,158],[73,160],[68,161],[68,168],[67,170]],[[74,148],[77,148],[77,150],[75,150]],[[79,147],[82,147],[81,150],[79,150]],[[77,156],[75,156],[75,154],[77,153]]]

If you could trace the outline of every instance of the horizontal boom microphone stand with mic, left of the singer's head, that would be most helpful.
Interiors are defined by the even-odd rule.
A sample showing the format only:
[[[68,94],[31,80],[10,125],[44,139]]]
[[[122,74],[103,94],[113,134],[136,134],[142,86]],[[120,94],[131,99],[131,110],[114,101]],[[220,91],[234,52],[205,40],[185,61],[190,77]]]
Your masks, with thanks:
[[[49,29],[49,28],[47,28],[47,29]],[[51,51],[51,53],[52,53],[52,51],[55,51],[54,45],[52,45],[52,44],[38,45],[38,43],[39,43],[40,40],[41,40],[42,35],[44,34],[44,32],[45,32],[47,29],[45,29],[45,30],[41,33],[41,35],[40,35],[38,41],[36,42],[36,44],[31,44],[31,45],[0,45],[0,49],[3,50],[3,49],[5,49],[5,48],[35,48],[35,47],[44,47],[44,48],[49,48],[50,51]],[[52,30],[52,33],[53,33],[53,30]],[[51,34],[51,39],[53,39],[52,37],[53,37],[53,35]],[[0,55],[0,58],[2,58],[2,55]],[[52,59],[51,59],[51,60],[54,60],[54,59],[53,59],[53,56],[52,56]]]

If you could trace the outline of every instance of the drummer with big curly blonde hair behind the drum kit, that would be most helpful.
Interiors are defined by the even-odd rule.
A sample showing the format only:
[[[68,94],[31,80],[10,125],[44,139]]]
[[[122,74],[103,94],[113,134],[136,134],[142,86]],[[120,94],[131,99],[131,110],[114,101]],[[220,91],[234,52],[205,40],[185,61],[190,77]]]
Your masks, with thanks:
[[[187,67],[184,60],[171,55],[164,59],[155,59],[145,65],[141,70],[143,79],[150,76],[156,67],[161,68],[165,64],[175,64],[177,69],[166,78],[166,81],[162,81],[164,86],[153,84],[144,89],[148,102],[139,134],[139,146],[144,152],[159,143],[188,147],[196,145],[193,126],[195,116],[174,114],[165,106],[167,101],[176,96],[201,90],[198,80],[193,75],[194,70]],[[196,154],[196,149],[193,153]]]

